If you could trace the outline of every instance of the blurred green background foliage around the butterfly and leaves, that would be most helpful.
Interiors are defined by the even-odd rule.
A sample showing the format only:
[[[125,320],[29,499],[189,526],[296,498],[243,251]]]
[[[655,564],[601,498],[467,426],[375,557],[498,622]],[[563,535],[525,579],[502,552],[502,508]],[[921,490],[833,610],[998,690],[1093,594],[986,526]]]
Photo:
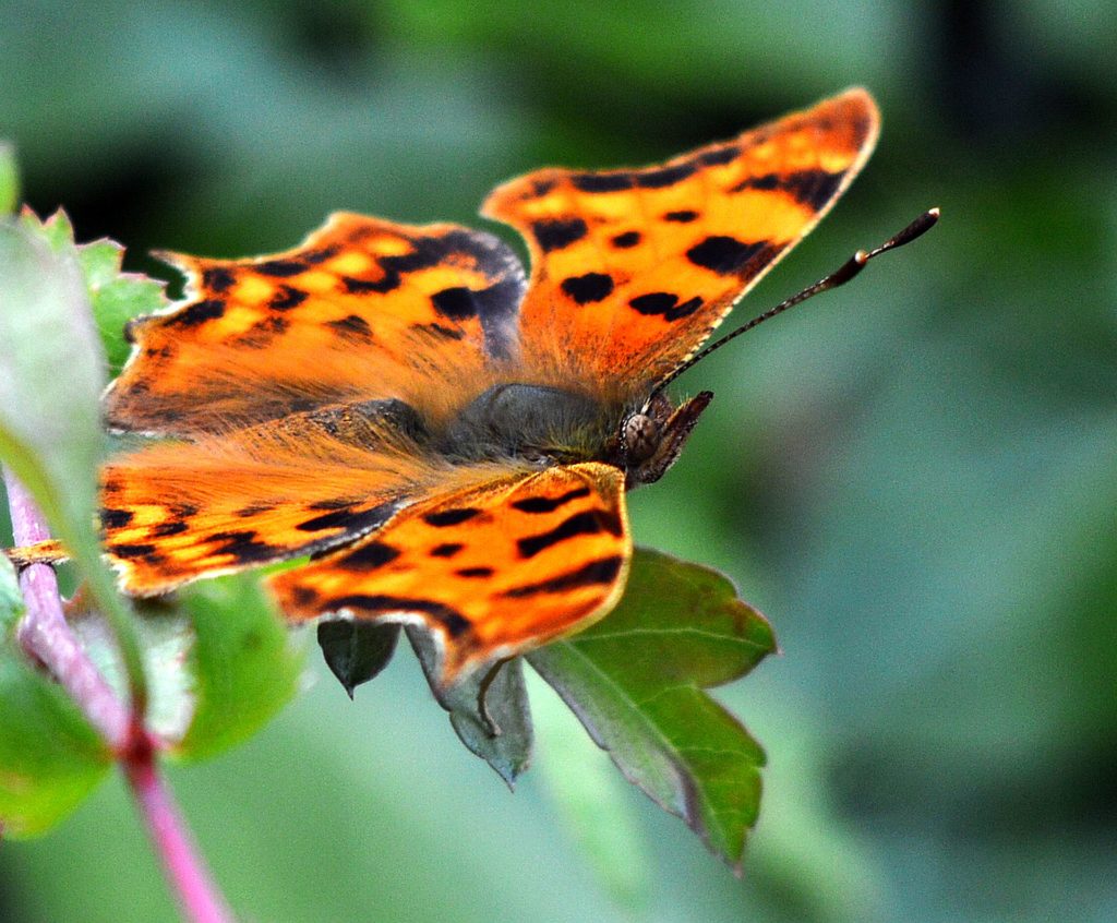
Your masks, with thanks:
[[[741,318],[943,207],[690,372],[717,400],[632,497],[641,543],[731,574],[783,647],[719,691],[770,755],[744,879],[545,695],[509,794],[405,655],[355,704],[316,665],[255,741],[172,771],[242,917],[1117,919],[1115,48],[1107,0],[0,0],[28,201],[135,268],[334,209],[477,222],[517,172],[658,160],[851,84],[878,152]],[[0,847],[0,920],[173,915],[115,780]]]

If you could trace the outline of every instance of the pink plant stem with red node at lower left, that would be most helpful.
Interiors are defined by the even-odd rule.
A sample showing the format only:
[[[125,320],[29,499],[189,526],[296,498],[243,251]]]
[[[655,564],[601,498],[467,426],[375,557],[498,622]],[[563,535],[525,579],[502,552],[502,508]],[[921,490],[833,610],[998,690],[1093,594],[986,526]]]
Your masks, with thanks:
[[[16,544],[49,539],[38,506],[7,467],[3,480]],[[27,607],[19,625],[20,645],[50,670],[117,754],[183,914],[191,923],[230,923],[232,913],[214,887],[171,793],[155,771],[154,741],[139,721],[133,721],[128,708],[70,630],[54,568],[48,564],[25,568],[19,587]]]

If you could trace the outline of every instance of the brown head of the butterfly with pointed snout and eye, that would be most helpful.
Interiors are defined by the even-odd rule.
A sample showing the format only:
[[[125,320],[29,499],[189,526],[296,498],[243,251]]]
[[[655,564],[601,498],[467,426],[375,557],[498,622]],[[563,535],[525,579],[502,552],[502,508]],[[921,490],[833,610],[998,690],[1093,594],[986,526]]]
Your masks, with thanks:
[[[662,393],[656,393],[624,417],[617,445],[629,489],[653,484],[667,473],[713,397],[712,391],[703,391],[675,407]]]

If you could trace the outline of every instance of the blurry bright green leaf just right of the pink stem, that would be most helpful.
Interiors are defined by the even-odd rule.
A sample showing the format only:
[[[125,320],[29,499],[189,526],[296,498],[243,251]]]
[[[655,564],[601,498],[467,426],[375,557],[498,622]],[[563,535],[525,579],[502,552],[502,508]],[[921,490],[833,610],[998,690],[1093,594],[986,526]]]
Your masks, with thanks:
[[[211,757],[246,740],[298,689],[305,646],[293,643],[258,578],[236,574],[182,592],[194,628],[193,720],[175,748]]]

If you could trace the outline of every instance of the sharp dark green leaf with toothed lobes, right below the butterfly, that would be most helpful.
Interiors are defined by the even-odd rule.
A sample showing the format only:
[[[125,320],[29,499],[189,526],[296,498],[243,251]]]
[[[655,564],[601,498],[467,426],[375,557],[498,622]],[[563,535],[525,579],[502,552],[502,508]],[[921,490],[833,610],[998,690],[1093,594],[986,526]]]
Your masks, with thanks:
[[[764,751],[704,689],[774,649],[768,624],[726,578],[638,550],[605,619],[527,659],[630,781],[739,867]]]

